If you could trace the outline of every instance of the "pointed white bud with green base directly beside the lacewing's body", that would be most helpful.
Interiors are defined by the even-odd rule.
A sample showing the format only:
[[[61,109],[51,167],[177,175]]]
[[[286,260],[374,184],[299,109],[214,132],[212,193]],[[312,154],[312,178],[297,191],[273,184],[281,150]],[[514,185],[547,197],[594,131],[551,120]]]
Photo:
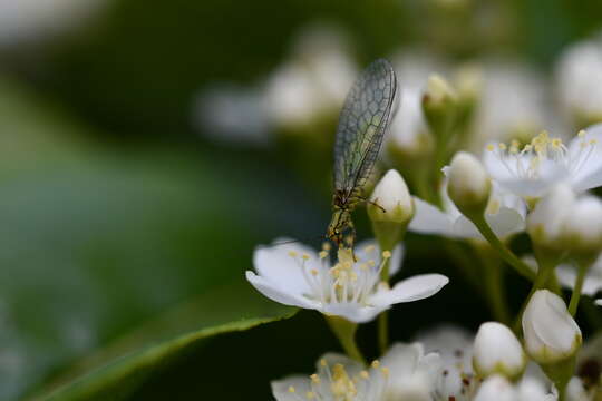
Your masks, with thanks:
[[[414,217],[414,199],[404,177],[390,169],[380,179],[368,204],[372,222],[389,222],[407,225]]]

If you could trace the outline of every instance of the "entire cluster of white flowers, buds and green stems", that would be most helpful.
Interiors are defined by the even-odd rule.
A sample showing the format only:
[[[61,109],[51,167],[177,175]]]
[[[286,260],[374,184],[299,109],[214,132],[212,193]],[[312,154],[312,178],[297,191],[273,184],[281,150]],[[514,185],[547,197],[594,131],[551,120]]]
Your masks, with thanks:
[[[574,79],[579,68],[564,63],[559,74]],[[375,239],[353,246],[356,232],[346,219],[350,241],[337,237],[337,250],[281,238],[258,247],[254,271],[246,272],[271,300],[322,313],[347,354],[327,353],[314,374],[272,382],[273,395],[291,401],[600,400],[602,374],[590,368],[602,365],[602,351],[584,360],[582,345],[600,343],[582,332],[577,311],[583,305],[595,315],[594,305],[602,305],[596,299],[602,200],[594,192],[602,186],[602,114],[592,121],[596,109],[565,88],[566,101],[596,123],[579,126],[566,140],[566,133],[543,130],[550,113],[530,115],[533,108],[513,105],[512,116],[483,115],[479,107],[489,107],[489,96],[515,97],[522,86],[537,92],[534,98],[542,95],[521,84],[487,95],[487,77],[495,77],[487,68],[463,66],[453,80],[406,70],[399,77],[401,95],[385,143],[385,159],[396,168],[375,183],[370,196],[355,192],[369,185],[352,192],[366,205]],[[475,139],[475,129],[488,129],[483,128],[488,119],[503,126],[504,135],[484,140],[482,133]],[[493,320],[459,346],[455,340],[434,345],[428,335],[389,342],[387,311],[436,295],[449,282],[426,266],[423,274],[394,278],[408,232],[444,237],[439,244],[487,300]],[[518,234],[523,248],[531,246],[523,255],[511,243]],[[506,301],[506,266],[531,286],[521,306]],[[375,320],[381,358],[368,363],[355,333]],[[598,320],[591,317],[590,325],[595,329]]]

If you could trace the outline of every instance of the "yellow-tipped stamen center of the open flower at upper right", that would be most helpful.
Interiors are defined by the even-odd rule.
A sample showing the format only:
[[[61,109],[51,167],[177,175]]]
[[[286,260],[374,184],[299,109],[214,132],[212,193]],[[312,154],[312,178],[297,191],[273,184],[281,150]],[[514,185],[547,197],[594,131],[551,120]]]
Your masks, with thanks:
[[[498,157],[504,167],[516,178],[538,178],[541,167],[545,162],[563,166],[570,174],[576,174],[593,154],[598,141],[588,139],[585,130],[579,136],[579,148],[570,150],[560,138],[551,138],[547,131],[542,131],[531,143],[521,148],[518,140],[487,145],[487,150]]]

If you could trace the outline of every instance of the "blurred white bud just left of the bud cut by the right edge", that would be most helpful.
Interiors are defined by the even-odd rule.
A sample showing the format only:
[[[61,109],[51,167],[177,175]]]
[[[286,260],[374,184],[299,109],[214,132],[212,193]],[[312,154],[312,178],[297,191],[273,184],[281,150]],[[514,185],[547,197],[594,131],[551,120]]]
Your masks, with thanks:
[[[573,209],[575,194],[567,185],[556,185],[527,217],[531,239],[544,248],[564,251],[564,222]]]

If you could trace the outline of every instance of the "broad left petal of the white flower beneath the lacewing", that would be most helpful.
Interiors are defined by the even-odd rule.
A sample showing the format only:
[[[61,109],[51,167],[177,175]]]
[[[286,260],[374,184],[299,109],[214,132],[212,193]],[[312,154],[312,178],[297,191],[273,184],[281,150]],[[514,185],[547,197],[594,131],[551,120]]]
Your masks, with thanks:
[[[274,244],[284,243],[287,238],[279,238]],[[299,257],[294,260],[289,252],[295,252]],[[305,268],[320,268],[318,256],[309,246],[292,243],[272,246],[260,246],[253,253],[253,266],[259,275],[268,278],[281,291],[291,294],[303,294],[310,291],[300,267],[300,256],[308,254]]]

